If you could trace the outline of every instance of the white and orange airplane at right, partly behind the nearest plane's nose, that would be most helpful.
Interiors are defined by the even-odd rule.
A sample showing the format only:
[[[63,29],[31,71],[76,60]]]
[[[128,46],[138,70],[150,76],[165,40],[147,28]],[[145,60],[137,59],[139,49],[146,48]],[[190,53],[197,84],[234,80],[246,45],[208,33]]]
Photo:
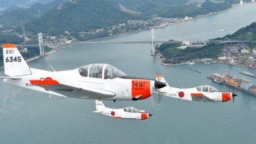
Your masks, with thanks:
[[[171,98],[179,98],[188,101],[229,101],[234,100],[236,94],[230,92],[219,92],[213,86],[197,86],[195,88],[173,88],[167,84],[163,76],[157,75],[156,81],[164,82],[167,86],[156,90],[156,94],[168,96]]]

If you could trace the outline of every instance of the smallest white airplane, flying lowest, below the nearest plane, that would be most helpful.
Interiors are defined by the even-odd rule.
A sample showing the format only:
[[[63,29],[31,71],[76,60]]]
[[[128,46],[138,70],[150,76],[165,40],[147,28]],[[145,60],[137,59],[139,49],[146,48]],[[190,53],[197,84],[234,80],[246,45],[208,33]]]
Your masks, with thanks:
[[[105,107],[101,100],[95,100],[96,111],[93,113],[100,113],[102,115],[107,115],[112,118],[125,118],[134,120],[146,120],[152,115],[150,113],[145,113],[144,110],[138,110],[135,107],[125,107],[123,109],[110,109]]]

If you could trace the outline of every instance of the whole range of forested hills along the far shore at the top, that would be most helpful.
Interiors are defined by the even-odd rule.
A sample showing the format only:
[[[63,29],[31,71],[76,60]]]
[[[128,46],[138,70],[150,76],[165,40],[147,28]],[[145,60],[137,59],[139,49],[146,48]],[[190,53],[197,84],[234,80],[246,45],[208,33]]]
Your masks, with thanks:
[[[28,33],[43,31],[61,35],[69,31],[72,36],[80,32],[116,26],[127,20],[147,19],[154,16],[184,18],[217,12],[232,7],[238,0],[200,1],[189,0],[54,0],[45,5],[36,4],[27,10],[12,10],[0,15],[0,30],[14,30],[21,34],[21,24]],[[121,10],[119,5],[134,10]],[[41,16],[39,16],[39,11]],[[105,33],[107,36],[108,33]]]

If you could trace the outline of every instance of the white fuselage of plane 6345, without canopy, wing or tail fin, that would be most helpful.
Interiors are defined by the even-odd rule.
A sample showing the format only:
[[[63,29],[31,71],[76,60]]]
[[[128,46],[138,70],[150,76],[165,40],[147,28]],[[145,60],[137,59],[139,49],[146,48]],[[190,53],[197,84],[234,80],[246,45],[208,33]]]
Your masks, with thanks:
[[[44,80],[47,77],[51,77],[58,81],[59,83],[69,84],[70,86],[78,88],[92,88],[96,90],[104,90],[107,92],[112,92],[115,94],[114,97],[111,98],[104,98],[108,100],[132,100],[137,95],[143,95],[142,99],[149,98],[152,96],[154,92],[154,81],[150,80],[137,80],[137,79],[122,79],[122,78],[115,78],[115,79],[97,79],[92,77],[81,77],[79,71],[77,69],[68,70],[68,71],[58,71],[58,72],[51,72],[51,71],[43,71],[40,69],[32,69],[32,75],[25,75],[22,76],[20,80],[12,80],[12,79],[4,79],[4,82],[8,84],[12,84],[15,86],[20,86],[22,88],[29,88],[31,90],[37,90],[39,92],[45,92],[47,94],[53,94],[56,96],[64,96],[64,97],[71,97],[71,98],[83,98],[83,99],[96,99],[95,97],[87,96],[77,96],[73,95],[72,92],[53,92],[51,90],[47,90],[42,88],[41,86],[35,86],[31,84],[31,80]],[[147,82],[149,85],[143,85],[143,88],[134,88],[133,81],[141,81]]]

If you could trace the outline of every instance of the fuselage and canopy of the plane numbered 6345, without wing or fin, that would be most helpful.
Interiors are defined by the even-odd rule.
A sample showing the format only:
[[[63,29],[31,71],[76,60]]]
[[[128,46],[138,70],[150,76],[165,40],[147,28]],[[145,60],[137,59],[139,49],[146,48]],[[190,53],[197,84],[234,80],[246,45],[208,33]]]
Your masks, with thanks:
[[[95,65],[97,67],[101,67],[101,69],[99,70],[100,74],[98,75],[96,75],[97,70],[93,70],[93,67],[95,67]],[[69,98],[95,99],[95,97],[91,97],[89,95],[77,96],[74,95],[72,92],[58,92],[56,90],[53,92],[51,90],[42,88],[41,86],[36,86],[31,81],[43,81],[45,79],[51,78],[58,81],[61,84],[68,84],[77,89],[91,88],[114,93],[113,97],[104,98],[108,100],[146,99],[152,96],[152,94],[154,94],[154,80],[128,77],[118,69],[114,69],[111,65],[108,64],[91,64],[85,65],[83,67],[88,67],[87,73],[81,72],[82,67],[68,71],[56,72],[30,68],[32,71],[32,75],[21,76],[22,79],[20,80],[4,79],[4,81],[8,84],[12,84],[15,86],[20,86],[23,88],[37,90],[39,92],[45,92],[47,94],[53,94],[56,96],[64,96]],[[116,75],[118,77],[114,77],[114,72],[110,74],[109,71],[107,71],[108,69],[116,71]],[[92,71],[94,71],[94,73]]]

